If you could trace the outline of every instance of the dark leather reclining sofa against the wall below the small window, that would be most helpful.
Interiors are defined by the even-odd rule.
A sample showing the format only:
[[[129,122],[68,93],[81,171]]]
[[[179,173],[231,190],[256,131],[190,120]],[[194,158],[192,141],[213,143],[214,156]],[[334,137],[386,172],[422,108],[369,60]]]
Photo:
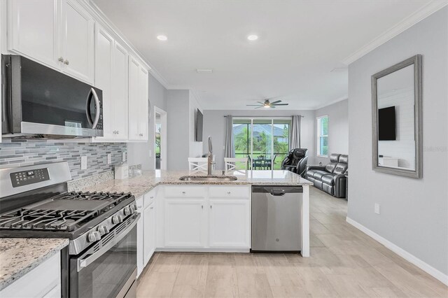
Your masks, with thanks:
[[[349,169],[349,155],[330,155],[330,163],[326,166],[308,166],[305,178],[319,190],[328,192],[338,198],[346,197],[346,176]]]

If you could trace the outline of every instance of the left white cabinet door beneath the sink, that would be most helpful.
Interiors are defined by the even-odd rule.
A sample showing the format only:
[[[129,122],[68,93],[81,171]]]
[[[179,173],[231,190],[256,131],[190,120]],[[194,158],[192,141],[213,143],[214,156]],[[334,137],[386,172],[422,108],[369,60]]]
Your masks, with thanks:
[[[205,204],[205,199],[165,199],[165,247],[206,245]]]

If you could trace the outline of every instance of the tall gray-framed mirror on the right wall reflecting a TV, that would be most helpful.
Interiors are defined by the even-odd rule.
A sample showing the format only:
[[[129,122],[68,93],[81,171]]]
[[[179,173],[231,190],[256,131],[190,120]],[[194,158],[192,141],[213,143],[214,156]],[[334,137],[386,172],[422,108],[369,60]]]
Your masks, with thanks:
[[[372,76],[372,169],[422,176],[421,55]]]

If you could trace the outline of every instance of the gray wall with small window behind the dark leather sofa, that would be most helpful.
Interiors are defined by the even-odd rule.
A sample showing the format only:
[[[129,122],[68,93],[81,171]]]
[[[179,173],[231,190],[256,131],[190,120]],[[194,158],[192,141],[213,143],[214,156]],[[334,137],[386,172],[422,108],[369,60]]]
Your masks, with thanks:
[[[323,115],[328,115],[328,157],[316,156],[316,162],[328,164],[331,153],[349,154],[349,100],[316,110],[316,118]],[[317,146],[317,132],[315,140]]]

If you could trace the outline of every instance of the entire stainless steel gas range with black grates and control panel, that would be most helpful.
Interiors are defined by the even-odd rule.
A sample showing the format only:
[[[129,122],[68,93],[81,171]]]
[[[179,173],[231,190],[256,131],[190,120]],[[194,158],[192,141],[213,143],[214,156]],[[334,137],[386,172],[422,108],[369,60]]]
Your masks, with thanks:
[[[66,162],[0,169],[0,237],[67,238],[62,297],[136,297],[130,193],[67,192]]]

